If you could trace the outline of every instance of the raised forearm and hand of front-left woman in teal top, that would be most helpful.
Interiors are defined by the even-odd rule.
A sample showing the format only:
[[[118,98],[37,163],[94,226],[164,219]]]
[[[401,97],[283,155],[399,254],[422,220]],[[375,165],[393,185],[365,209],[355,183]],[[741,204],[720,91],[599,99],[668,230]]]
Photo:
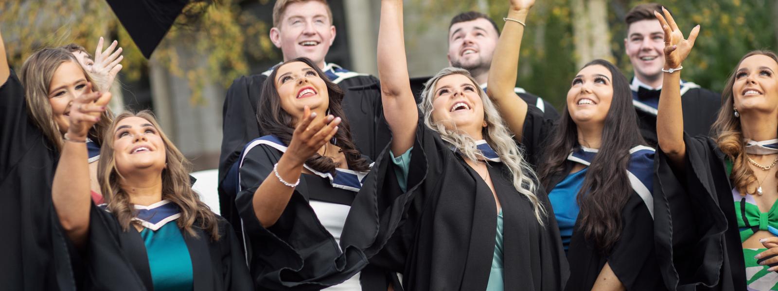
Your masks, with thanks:
[[[89,234],[89,154],[86,135],[110,101],[110,93],[90,92],[73,99],[70,126],[54,174],[51,199],[54,209],[71,241],[77,246],[86,243]]]

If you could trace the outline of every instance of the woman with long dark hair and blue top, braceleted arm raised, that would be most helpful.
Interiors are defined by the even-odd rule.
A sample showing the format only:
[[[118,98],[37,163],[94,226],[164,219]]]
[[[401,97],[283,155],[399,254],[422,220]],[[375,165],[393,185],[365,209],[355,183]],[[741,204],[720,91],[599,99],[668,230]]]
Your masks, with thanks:
[[[608,61],[591,61],[573,78],[560,119],[545,120],[513,92],[526,18],[506,18],[488,94],[548,191],[570,265],[566,289],[662,289],[654,149],[640,136],[629,82]]]

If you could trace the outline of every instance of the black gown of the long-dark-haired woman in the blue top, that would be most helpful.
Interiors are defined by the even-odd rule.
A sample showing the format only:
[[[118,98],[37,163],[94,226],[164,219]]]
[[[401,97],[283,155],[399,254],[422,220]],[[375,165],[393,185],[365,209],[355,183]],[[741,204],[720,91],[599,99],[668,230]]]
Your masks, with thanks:
[[[534,165],[541,161],[545,151],[545,137],[553,134],[553,130],[554,121],[543,118],[538,109],[527,111],[522,145]],[[551,192],[562,182],[573,165],[573,161],[568,161],[565,171],[554,175],[546,190]],[[637,192],[630,192],[629,200],[622,209],[622,234],[608,254],[601,254],[593,243],[587,241],[579,223],[580,214],[573,227],[568,249],[570,278],[566,290],[591,290],[606,262],[627,290],[664,289],[654,248],[654,221]]]

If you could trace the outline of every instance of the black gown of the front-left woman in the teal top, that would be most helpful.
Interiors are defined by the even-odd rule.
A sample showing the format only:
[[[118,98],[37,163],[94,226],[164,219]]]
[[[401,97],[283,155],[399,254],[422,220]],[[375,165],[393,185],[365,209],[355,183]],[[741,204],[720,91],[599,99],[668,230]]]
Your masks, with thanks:
[[[181,231],[191,258],[194,291],[253,290],[235,233],[222,217],[219,241],[195,228],[198,237]],[[172,221],[170,223],[176,223]],[[86,275],[82,290],[153,290],[149,257],[135,227],[121,229],[113,214],[92,205],[89,238],[81,252]]]

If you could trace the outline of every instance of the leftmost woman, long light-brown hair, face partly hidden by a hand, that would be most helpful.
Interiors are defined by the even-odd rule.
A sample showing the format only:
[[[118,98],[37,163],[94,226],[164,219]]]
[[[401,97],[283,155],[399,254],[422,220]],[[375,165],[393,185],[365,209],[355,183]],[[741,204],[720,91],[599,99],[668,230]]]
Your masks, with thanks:
[[[0,54],[0,213],[13,237],[0,242],[0,282],[9,289],[72,289],[49,193],[72,99],[100,93],[91,90],[89,74],[67,50],[37,51],[24,62],[20,78],[8,66],[2,39]],[[89,138],[99,143],[108,123],[102,113]]]

